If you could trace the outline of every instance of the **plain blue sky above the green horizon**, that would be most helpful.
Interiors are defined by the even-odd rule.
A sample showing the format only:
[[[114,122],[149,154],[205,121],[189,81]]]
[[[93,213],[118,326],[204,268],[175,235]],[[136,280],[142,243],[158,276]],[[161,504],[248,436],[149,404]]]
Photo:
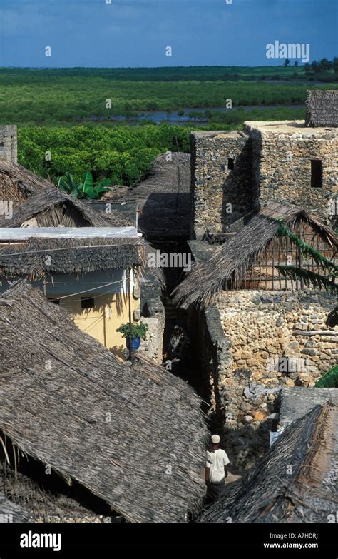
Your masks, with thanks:
[[[337,56],[337,0],[0,3],[0,66],[282,64],[265,56],[276,40],[308,43],[310,61]]]

